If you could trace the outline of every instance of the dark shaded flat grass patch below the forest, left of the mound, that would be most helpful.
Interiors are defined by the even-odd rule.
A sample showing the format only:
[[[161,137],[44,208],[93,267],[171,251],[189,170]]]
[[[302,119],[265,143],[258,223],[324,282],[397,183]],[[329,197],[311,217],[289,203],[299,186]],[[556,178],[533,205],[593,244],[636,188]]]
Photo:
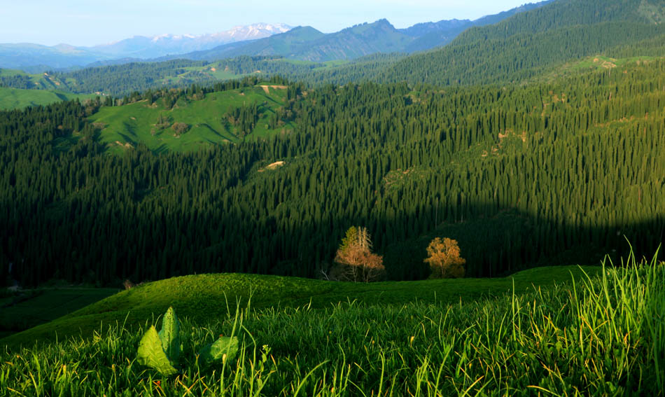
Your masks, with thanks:
[[[27,330],[98,302],[116,288],[41,288],[0,299],[0,335]]]

